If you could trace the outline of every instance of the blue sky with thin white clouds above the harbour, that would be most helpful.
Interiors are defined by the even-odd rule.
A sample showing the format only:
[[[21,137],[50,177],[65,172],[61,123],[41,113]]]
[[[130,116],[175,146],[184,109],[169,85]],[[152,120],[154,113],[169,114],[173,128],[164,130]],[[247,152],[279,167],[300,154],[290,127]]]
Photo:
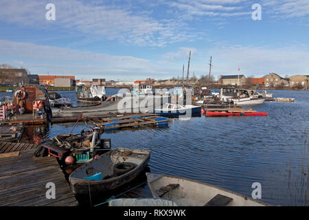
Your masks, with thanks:
[[[47,3],[56,20],[47,21]],[[251,17],[254,3],[262,20]],[[309,74],[309,0],[2,0],[0,64],[91,80]]]

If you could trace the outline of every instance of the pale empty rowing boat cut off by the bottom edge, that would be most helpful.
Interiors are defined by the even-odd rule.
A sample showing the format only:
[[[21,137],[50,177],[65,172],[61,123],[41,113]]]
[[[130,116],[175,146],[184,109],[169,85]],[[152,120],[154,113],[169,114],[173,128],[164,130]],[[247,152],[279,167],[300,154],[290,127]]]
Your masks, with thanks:
[[[152,173],[146,175],[153,197],[172,199],[179,206],[268,206],[201,181]]]

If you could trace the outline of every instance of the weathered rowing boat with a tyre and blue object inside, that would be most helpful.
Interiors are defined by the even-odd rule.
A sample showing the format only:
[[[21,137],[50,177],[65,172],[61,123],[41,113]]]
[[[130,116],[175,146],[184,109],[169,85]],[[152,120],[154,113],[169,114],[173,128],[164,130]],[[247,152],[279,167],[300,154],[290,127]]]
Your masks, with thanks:
[[[69,182],[73,193],[89,195],[127,184],[146,168],[149,159],[148,150],[116,148],[104,153],[71,173]]]

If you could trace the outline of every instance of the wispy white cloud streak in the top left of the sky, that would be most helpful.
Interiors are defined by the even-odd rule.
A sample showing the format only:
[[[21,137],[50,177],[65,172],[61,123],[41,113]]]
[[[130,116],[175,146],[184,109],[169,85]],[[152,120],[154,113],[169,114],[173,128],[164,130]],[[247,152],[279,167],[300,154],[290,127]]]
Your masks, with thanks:
[[[54,0],[56,21],[46,21],[43,0],[10,0],[0,2],[0,20],[35,28],[62,28],[89,36],[134,45],[163,46],[187,39],[187,32],[173,19],[153,19],[143,10],[128,10],[122,5],[104,5],[97,1]],[[127,9],[128,8],[128,9]],[[53,31],[53,29],[51,29]],[[190,34],[189,34],[190,35]],[[192,35],[192,34],[191,34]]]

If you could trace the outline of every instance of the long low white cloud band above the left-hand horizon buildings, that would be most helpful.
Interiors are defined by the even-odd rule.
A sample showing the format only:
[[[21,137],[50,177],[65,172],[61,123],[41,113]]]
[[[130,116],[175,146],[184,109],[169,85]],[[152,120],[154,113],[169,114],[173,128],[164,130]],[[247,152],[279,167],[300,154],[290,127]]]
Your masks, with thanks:
[[[18,62],[27,65],[32,72],[38,71],[36,68],[40,67],[45,72],[54,71],[54,74],[65,71],[89,77],[102,74],[114,78],[144,78],[168,76],[168,73],[176,71],[172,67],[162,67],[133,56],[112,56],[3,40],[0,40],[0,48],[0,58],[18,58]]]

